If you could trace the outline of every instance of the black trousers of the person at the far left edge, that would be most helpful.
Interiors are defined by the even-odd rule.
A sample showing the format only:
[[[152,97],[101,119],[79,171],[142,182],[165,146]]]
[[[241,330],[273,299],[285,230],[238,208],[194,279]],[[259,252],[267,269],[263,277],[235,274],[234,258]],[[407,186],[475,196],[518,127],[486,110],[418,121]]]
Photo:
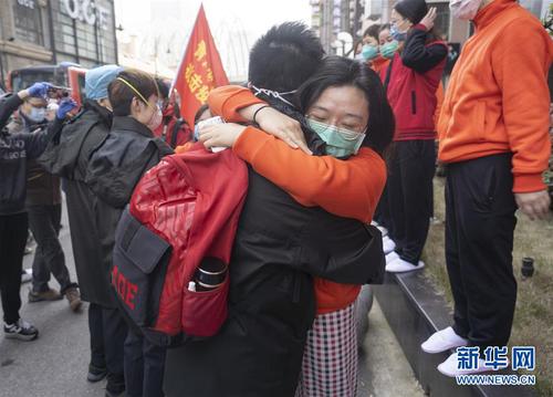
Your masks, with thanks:
[[[19,290],[28,227],[27,212],[0,216],[0,295],[3,321],[8,324],[19,320]]]

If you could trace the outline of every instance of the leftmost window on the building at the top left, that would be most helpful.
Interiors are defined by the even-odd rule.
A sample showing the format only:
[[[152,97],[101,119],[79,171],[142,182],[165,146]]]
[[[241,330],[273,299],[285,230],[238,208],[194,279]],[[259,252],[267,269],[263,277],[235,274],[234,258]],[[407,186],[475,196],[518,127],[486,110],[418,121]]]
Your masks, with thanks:
[[[14,0],[13,18],[15,38],[36,45],[44,45],[41,8],[35,0]]]

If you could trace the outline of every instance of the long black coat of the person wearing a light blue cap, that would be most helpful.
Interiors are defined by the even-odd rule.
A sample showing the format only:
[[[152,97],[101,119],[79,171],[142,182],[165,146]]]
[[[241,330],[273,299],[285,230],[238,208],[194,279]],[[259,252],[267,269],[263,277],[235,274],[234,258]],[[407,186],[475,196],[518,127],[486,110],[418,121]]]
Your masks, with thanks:
[[[92,152],[107,137],[112,114],[87,101],[84,109],[52,139],[39,163],[64,179],[71,243],[81,297],[104,307],[115,307],[109,289],[109,269],[102,263],[102,245],[96,224],[96,197],[85,184]]]

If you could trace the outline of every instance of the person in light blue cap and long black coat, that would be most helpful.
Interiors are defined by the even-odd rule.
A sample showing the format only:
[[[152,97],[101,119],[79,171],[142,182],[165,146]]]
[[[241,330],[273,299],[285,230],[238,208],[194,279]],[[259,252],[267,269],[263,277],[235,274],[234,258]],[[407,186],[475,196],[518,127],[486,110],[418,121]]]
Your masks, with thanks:
[[[116,309],[108,284],[109,269],[104,267],[101,255],[96,196],[84,180],[91,153],[112,127],[107,86],[122,70],[117,65],[105,65],[86,72],[83,109],[65,124],[60,139],[52,142],[42,156],[44,166],[64,179],[76,274],[82,300],[90,302],[87,380],[100,382],[107,377],[107,396],[117,396],[125,389],[123,344],[127,327]]]

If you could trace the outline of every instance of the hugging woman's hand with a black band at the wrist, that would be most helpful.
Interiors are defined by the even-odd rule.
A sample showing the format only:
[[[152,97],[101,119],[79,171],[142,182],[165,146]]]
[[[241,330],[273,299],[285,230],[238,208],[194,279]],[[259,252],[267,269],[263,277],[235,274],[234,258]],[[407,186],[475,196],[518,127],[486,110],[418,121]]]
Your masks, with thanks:
[[[259,111],[255,116],[255,121],[265,133],[284,140],[294,149],[300,148],[307,155],[313,154],[305,143],[302,126],[292,117],[289,117],[272,107],[264,107]]]

